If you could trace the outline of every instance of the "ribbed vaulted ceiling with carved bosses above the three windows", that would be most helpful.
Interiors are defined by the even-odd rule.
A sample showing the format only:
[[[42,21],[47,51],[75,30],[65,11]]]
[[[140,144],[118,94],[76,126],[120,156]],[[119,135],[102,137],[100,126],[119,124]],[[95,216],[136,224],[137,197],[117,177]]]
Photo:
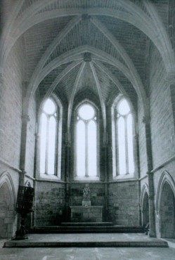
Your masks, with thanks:
[[[167,73],[174,72],[164,8],[168,1],[15,2],[1,38],[0,69],[15,42],[22,39],[26,108],[34,93],[39,103],[56,93],[71,113],[77,94],[89,92],[98,98],[105,122],[105,107],[119,93],[131,101],[137,96],[144,104],[148,41],[160,51]]]

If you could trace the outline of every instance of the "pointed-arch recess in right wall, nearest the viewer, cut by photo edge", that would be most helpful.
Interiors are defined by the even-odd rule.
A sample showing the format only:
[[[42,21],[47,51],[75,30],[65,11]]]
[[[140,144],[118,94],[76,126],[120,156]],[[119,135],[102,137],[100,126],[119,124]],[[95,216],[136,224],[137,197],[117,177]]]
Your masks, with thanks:
[[[160,234],[161,238],[175,238],[175,198],[167,181],[160,199]]]

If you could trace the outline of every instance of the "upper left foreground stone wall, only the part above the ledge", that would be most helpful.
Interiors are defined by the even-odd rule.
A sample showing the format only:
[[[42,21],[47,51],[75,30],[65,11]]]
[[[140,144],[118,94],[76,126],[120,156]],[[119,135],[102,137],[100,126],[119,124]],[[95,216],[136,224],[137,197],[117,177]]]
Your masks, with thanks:
[[[20,165],[20,138],[22,120],[22,54],[16,44],[8,56],[1,75],[0,96],[0,152],[1,159],[13,167]]]

